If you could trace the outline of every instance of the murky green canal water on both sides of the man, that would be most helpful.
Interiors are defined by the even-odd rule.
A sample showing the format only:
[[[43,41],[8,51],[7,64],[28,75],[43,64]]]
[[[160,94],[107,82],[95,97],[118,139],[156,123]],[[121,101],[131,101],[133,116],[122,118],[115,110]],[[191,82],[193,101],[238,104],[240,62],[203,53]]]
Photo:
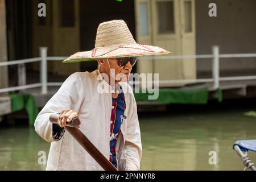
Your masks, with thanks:
[[[247,104],[246,102],[250,102]],[[254,101],[228,105],[170,105],[167,112],[139,114],[143,157],[142,170],[242,170],[232,145],[238,139],[256,139]],[[44,170],[38,152],[49,143],[27,125],[0,127],[0,170]],[[210,151],[216,164],[209,164]],[[256,152],[249,152],[256,163]]]

